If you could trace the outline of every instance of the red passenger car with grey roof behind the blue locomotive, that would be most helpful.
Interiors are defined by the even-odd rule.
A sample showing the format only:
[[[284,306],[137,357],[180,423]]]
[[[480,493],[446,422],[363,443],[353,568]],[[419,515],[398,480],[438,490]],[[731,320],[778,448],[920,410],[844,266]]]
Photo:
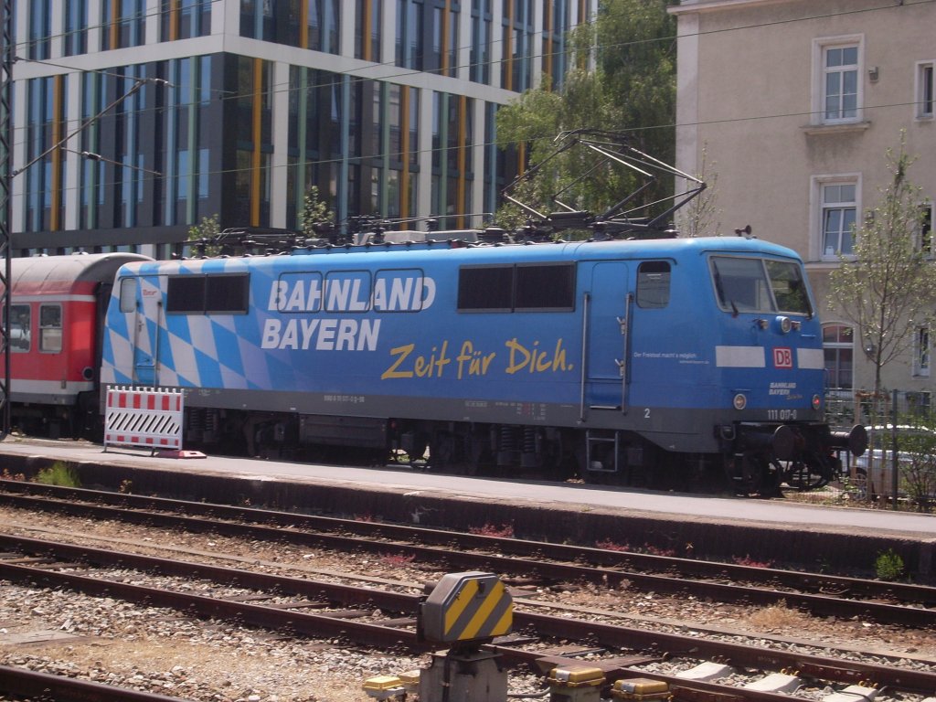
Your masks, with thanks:
[[[7,324],[12,424],[80,436],[100,425],[103,315],[114,274],[137,254],[14,258]],[[3,355],[0,354],[0,362]]]

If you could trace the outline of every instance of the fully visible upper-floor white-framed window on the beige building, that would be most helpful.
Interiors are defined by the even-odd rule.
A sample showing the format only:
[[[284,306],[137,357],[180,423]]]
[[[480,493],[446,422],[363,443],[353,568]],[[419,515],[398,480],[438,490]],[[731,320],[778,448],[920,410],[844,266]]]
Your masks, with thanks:
[[[829,37],[813,42],[812,107],[819,124],[861,119],[863,37]]]

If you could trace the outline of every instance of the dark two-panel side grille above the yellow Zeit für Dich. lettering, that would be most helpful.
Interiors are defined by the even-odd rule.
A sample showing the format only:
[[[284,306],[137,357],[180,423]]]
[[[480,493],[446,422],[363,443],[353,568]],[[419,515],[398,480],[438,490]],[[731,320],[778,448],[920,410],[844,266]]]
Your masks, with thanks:
[[[575,309],[575,294],[571,263],[466,266],[459,271],[462,312],[568,312]]]

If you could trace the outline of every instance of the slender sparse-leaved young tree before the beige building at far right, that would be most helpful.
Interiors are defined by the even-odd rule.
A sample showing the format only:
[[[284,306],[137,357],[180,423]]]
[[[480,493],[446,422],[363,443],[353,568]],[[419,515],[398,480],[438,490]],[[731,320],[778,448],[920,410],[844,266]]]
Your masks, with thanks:
[[[932,321],[936,267],[919,238],[924,197],[907,178],[914,160],[901,133],[899,151],[886,154],[890,183],[879,189],[878,204],[853,232],[854,256],[842,256],[829,275],[829,307],[854,324],[874,364],[875,401],[882,369],[911,347],[915,329]]]

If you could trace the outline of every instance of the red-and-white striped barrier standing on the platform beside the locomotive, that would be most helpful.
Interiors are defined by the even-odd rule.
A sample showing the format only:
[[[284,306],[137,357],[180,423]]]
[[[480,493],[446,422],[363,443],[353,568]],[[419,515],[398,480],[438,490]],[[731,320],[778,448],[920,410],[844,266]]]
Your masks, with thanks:
[[[157,388],[108,388],[104,450],[108,446],[182,451],[183,393]]]

